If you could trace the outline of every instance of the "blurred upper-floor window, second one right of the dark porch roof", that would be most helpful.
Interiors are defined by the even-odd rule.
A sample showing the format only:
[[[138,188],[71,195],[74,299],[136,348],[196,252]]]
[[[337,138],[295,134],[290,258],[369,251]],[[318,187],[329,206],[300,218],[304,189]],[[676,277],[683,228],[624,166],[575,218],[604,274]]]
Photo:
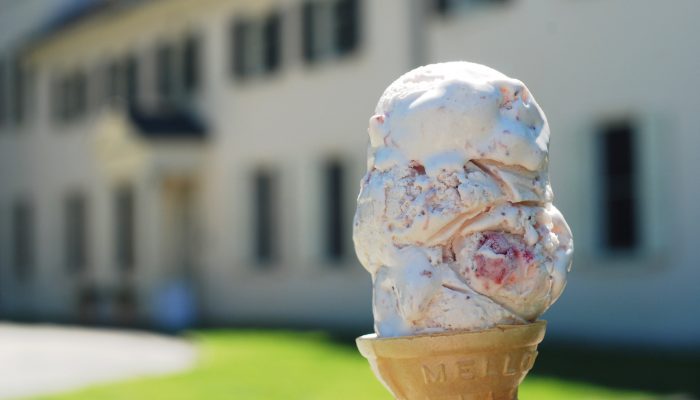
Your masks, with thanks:
[[[357,48],[359,0],[315,0],[302,7],[306,61],[344,55]]]

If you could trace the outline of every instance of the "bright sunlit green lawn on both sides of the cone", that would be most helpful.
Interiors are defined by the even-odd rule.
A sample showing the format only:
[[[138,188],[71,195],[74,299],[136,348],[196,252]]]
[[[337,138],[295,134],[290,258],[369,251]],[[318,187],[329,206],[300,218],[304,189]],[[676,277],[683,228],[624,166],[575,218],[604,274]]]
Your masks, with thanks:
[[[320,333],[204,331],[191,335],[190,371],[37,397],[43,400],[386,399],[391,396],[352,347]],[[650,399],[652,395],[529,376],[521,399]]]

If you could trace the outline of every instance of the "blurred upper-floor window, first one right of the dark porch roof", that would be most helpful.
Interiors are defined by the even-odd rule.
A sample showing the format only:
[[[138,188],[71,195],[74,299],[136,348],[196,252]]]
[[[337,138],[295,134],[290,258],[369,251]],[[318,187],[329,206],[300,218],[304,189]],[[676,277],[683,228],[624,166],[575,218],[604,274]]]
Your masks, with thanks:
[[[279,14],[233,22],[231,65],[236,77],[264,75],[279,68],[280,26]]]

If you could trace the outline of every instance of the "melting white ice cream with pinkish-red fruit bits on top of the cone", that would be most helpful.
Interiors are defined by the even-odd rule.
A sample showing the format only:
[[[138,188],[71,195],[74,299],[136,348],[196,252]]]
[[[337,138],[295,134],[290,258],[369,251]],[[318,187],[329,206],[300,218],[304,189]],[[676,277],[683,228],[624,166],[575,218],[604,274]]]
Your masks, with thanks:
[[[369,137],[353,239],[379,336],[527,323],[557,300],[573,241],[522,82],[468,62],[417,68],[386,89]]]

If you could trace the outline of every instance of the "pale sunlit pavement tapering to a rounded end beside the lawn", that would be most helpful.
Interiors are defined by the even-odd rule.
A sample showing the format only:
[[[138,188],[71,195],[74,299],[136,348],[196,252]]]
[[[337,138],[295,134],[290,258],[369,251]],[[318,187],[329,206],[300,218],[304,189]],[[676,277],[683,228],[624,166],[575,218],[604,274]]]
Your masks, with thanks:
[[[0,323],[0,399],[187,369],[186,341],[150,333]]]

